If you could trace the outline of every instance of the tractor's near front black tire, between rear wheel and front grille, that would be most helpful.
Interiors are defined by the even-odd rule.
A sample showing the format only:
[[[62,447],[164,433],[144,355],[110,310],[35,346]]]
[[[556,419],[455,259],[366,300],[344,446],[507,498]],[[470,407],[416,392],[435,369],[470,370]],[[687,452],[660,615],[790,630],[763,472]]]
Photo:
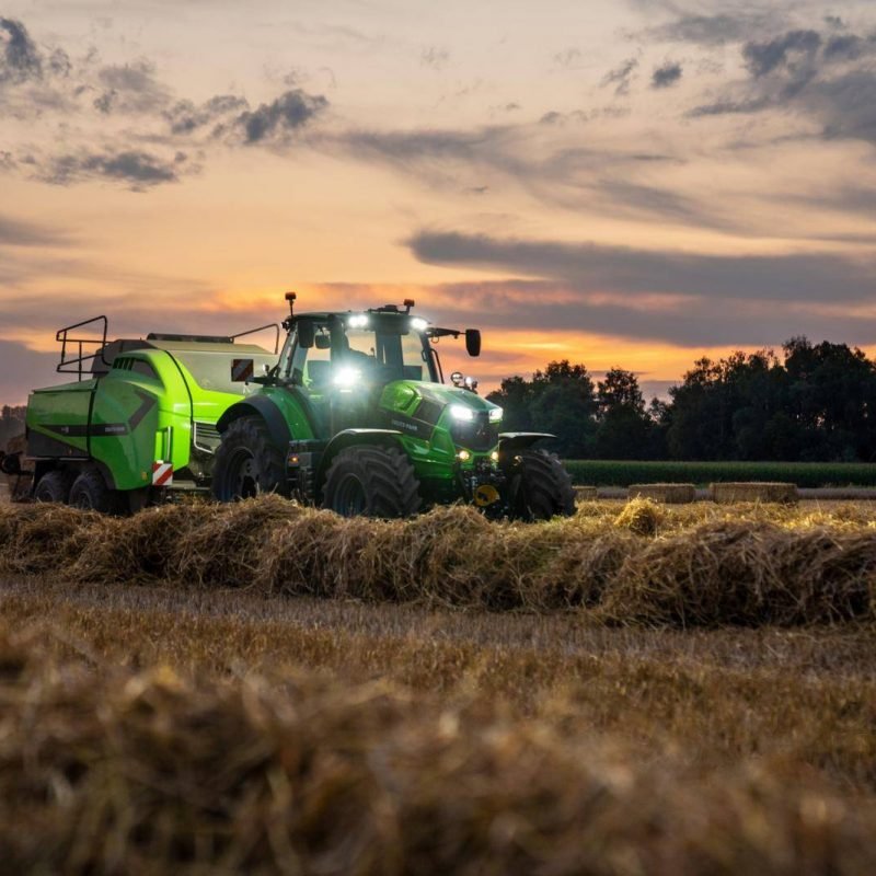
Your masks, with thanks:
[[[420,506],[419,481],[401,450],[348,447],[328,468],[322,506],[342,517],[413,517]]]

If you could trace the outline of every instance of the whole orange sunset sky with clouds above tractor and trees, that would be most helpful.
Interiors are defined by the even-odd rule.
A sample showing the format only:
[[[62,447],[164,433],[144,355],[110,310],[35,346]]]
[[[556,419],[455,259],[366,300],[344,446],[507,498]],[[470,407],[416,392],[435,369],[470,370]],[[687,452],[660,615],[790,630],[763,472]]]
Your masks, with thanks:
[[[0,402],[60,325],[233,333],[287,289],[479,326],[487,387],[873,351],[873,5],[5,0]]]

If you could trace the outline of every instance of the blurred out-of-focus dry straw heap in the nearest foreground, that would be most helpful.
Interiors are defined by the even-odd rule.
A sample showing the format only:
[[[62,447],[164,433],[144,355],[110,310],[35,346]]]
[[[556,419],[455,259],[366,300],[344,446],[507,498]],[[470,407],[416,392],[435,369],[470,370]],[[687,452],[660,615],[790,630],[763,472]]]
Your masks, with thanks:
[[[496,702],[191,680],[0,632],[10,873],[876,872],[876,810],[789,765],[701,774]]]

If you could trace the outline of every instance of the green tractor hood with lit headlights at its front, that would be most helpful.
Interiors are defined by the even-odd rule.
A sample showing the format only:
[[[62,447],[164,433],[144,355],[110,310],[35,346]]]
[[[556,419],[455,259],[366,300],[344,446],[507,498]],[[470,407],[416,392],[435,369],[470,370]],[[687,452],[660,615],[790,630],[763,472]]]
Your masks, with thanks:
[[[502,408],[473,392],[414,380],[388,383],[380,408],[388,425],[406,435],[429,440],[436,428],[442,428],[456,443],[473,448],[492,447],[502,422]]]

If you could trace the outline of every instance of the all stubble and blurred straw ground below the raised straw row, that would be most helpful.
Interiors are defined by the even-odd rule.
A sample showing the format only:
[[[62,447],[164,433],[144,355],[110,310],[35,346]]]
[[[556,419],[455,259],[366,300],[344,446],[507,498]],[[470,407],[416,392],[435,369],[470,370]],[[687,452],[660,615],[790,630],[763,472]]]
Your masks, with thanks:
[[[876,632],[0,585],[16,872],[863,873]],[[14,632],[13,632],[14,631]]]

